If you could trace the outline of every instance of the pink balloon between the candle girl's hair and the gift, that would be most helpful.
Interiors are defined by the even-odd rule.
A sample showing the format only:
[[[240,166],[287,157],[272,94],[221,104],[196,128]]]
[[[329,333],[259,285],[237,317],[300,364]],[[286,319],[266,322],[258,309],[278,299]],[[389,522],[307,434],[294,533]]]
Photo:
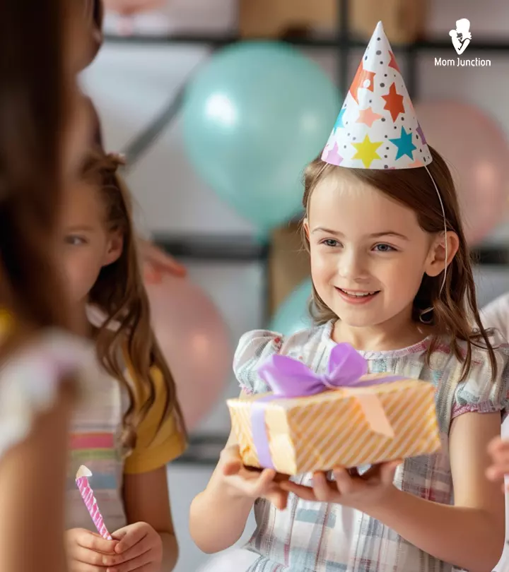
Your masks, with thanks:
[[[147,284],[153,328],[177,384],[188,429],[220,398],[232,367],[228,330],[216,306],[186,278]]]

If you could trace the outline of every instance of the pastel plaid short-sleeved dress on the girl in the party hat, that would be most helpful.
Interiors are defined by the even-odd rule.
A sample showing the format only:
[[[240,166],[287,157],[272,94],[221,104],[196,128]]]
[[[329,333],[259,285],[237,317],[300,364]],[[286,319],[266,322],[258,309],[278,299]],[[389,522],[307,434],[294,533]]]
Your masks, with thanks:
[[[289,338],[265,330],[242,336],[235,353],[234,370],[247,393],[262,393],[267,386],[257,375],[257,365],[279,352],[300,359],[315,371],[327,367],[333,322],[304,330]],[[509,408],[509,347],[496,350],[498,378],[491,381],[488,355],[473,350],[472,370],[459,383],[462,364],[443,340],[426,364],[430,339],[402,350],[361,352],[372,373],[390,373],[436,387],[436,410],[442,450],[431,456],[406,459],[394,484],[423,499],[452,504],[452,476],[448,434],[452,419],[464,412],[496,412]],[[312,475],[295,479],[311,484]],[[303,501],[293,494],[286,511],[269,502],[254,504],[257,529],[246,549],[259,555],[248,572],[451,572],[451,564],[435,559],[410,544],[397,532],[365,513],[339,504]],[[245,568],[243,568],[245,570]],[[240,568],[239,568],[240,571]]]

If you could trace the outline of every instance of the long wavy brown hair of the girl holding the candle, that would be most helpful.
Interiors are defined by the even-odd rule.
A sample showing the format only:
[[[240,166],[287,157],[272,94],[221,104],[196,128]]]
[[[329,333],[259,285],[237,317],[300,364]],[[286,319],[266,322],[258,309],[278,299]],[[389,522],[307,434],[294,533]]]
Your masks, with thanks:
[[[177,425],[185,434],[185,423],[177,400],[175,381],[151,328],[150,307],[133,229],[131,198],[127,186],[117,174],[120,164],[122,160],[118,157],[106,155],[103,150],[96,148],[88,157],[84,174],[87,181],[99,187],[100,197],[105,204],[108,230],[120,232],[124,242],[118,260],[101,269],[90,291],[89,301],[107,316],[97,335],[100,362],[129,394],[129,408],[124,414],[122,434],[122,443],[129,452],[136,444],[136,427],[156,400],[152,367],[160,371],[165,386],[165,407],[159,427],[168,416],[175,415]],[[133,374],[144,390],[142,395],[135,395],[126,379],[125,360],[122,357],[126,354]]]

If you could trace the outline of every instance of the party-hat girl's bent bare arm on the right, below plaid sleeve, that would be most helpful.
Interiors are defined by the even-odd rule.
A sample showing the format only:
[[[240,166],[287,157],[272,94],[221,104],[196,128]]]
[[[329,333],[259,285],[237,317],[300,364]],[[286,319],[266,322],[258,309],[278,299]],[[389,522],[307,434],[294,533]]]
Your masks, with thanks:
[[[488,443],[501,431],[501,415],[464,413],[450,429],[455,505],[433,503],[392,489],[365,512],[435,558],[470,572],[492,570],[504,541],[504,499],[486,479]]]

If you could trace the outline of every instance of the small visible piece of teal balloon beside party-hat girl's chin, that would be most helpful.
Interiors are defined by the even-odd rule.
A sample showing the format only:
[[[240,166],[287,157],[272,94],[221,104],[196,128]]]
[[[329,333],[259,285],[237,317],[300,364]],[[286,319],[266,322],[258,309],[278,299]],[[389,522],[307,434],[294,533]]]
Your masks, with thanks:
[[[299,330],[311,328],[312,318],[308,309],[311,292],[311,280],[305,280],[296,290],[293,290],[277,309],[269,330],[283,335],[292,335]]]

